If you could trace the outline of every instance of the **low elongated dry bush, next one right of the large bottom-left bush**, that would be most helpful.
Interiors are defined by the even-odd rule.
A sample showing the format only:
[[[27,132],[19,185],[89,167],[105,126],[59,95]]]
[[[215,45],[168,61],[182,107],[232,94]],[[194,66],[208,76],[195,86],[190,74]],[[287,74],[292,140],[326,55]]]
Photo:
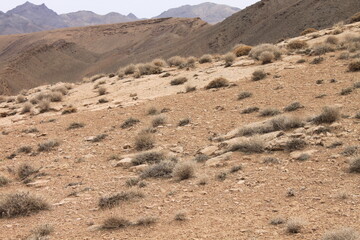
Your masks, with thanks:
[[[121,192],[112,196],[101,197],[98,206],[101,209],[113,208],[120,205],[123,202],[129,202],[140,198],[144,198],[144,194],[140,192],[133,192],[133,191]]]

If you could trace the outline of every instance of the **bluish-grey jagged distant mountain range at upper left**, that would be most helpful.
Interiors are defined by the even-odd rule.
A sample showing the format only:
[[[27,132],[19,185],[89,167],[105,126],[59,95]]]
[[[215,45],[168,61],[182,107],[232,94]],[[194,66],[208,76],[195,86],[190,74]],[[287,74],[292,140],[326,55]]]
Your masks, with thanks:
[[[31,33],[66,27],[112,24],[139,20],[134,14],[98,15],[90,11],[58,15],[45,4],[26,2],[8,11],[0,12],[0,35]]]

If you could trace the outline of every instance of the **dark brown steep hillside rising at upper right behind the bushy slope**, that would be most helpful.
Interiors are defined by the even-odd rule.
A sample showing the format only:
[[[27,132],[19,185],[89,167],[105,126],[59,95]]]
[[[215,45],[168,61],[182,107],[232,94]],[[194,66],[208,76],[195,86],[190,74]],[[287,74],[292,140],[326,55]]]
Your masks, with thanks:
[[[358,0],[262,0],[194,36],[182,51],[225,52],[238,43],[276,42],[307,28],[330,27],[359,11]]]

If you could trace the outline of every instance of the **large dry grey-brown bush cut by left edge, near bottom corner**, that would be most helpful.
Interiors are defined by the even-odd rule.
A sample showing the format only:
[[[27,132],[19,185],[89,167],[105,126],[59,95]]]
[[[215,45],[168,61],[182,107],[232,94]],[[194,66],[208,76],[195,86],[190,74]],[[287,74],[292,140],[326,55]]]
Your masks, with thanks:
[[[28,193],[8,194],[0,200],[0,218],[28,216],[48,209],[43,199]]]

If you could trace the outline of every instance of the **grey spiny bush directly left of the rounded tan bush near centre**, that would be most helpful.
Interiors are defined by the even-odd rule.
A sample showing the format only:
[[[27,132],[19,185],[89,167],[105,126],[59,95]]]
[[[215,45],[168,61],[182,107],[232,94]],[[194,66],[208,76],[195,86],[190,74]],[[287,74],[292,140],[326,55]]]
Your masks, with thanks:
[[[174,162],[162,161],[160,163],[154,164],[146,168],[142,174],[141,178],[169,178],[172,175],[173,169],[175,167]]]

